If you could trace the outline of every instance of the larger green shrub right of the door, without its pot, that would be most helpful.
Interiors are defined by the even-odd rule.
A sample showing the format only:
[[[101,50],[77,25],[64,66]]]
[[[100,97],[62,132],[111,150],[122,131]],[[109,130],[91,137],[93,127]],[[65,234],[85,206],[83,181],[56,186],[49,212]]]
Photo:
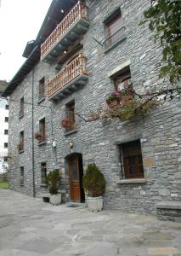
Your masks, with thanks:
[[[95,165],[88,165],[85,176],[83,177],[83,187],[88,196],[98,197],[105,193],[105,177]]]

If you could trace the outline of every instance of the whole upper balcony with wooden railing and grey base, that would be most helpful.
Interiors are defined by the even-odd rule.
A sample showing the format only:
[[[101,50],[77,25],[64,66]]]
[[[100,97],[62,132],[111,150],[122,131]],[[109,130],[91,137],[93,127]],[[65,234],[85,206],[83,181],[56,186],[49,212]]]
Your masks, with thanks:
[[[41,45],[41,61],[54,62],[88,31],[88,7],[78,2]]]

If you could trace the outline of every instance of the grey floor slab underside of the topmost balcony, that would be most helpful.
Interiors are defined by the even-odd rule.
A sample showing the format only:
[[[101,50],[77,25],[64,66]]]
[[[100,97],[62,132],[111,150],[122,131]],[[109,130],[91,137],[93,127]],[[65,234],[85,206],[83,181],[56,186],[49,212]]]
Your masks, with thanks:
[[[64,51],[68,49],[70,45],[81,38],[83,34],[88,32],[89,21],[82,18],[76,20],[76,22],[60,37],[57,42],[48,50],[46,55],[42,56],[42,61],[49,64],[56,61],[56,59],[64,54]]]

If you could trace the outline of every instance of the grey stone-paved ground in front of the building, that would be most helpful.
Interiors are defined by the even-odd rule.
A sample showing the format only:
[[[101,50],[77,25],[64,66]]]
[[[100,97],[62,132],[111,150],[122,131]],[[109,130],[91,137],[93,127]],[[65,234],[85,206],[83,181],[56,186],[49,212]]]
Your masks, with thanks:
[[[181,256],[181,224],[74,206],[0,189],[0,256]]]

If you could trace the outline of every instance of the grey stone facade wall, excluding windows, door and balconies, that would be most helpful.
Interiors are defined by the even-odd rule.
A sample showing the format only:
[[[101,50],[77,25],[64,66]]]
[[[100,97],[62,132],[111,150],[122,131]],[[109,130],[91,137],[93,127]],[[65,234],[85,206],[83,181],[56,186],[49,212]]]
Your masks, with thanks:
[[[48,171],[59,168],[62,172],[62,189],[66,191],[65,200],[69,201],[66,156],[81,153],[84,170],[94,162],[105,174],[105,208],[156,213],[156,203],[180,201],[181,102],[166,102],[153,109],[147,117],[125,122],[115,120],[105,124],[98,120],[86,123],[76,116],[77,132],[69,136],[65,136],[65,129],[60,125],[65,117],[65,104],[73,99],[77,113],[89,113],[104,106],[105,96],[114,89],[110,73],[115,73],[114,70],[119,70],[124,63],[130,63],[135,90],[143,92],[163,85],[163,81],[158,79],[161,49],[153,43],[148,26],[139,26],[149,3],[148,0],[88,1],[90,26],[82,39],[82,53],[88,58],[88,83],[62,101],[54,103],[45,99],[38,103],[38,81],[42,77],[48,80],[55,75],[54,64],[40,61],[11,94],[12,100],[20,101],[20,97],[24,96],[25,102],[31,103],[33,100],[34,104],[33,108],[31,104],[25,104],[24,117],[21,119],[20,103],[11,102],[9,106],[11,189],[33,195],[33,151],[36,196],[47,190],[41,186],[40,172],[40,163],[46,162]],[[122,10],[126,39],[105,54],[93,38],[99,42],[105,40],[103,21],[118,6]],[[38,146],[32,138],[32,125],[34,132],[38,131],[38,121],[42,118],[46,119],[47,143]],[[21,154],[17,150],[20,131],[25,133],[25,149]],[[120,182],[119,144],[136,139],[141,142],[144,183]],[[56,148],[52,147],[53,141]],[[73,148],[70,148],[70,142],[74,143]],[[20,186],[20,166],[25,168],[24,186]]]

